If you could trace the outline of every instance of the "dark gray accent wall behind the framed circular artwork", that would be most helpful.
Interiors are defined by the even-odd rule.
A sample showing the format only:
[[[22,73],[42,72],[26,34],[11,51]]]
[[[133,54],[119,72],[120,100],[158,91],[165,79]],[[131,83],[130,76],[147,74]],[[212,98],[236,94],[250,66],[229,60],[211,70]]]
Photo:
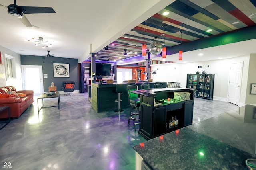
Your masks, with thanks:
[[[44,92],[48,92],[48,87],[54,82],[57,91],[62,91],[63,81],[75,81],[75,90],[79,90],[79,72],[78,59],[61,58],[61,57],[44,57],[34,55],[20,55],[21,65],[40,65],[43,68],[43,74],[47,74],[48,78],[44,78]],[[69,64],[70,77],[54,77],[53,63]]]

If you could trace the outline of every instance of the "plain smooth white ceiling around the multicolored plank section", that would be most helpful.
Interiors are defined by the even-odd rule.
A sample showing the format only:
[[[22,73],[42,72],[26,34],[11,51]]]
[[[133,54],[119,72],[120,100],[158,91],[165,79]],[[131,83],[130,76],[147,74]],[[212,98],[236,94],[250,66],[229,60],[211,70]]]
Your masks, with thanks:
[[[1,0],[0,45],[22,55],[46,55],[47,50],[56,57],[76,58],[82,62],[106,45],[115,41],[144,20],[150,18],[175,0],[17,0],[18,6],[52,7],[56,13],[26,14],[30,23],[40,29],[23,25],[7,13],[12,0]],[[43,49],[24,39],[43,37],[52,47]],[[256,53],[256,40],[211,47],[169,55],[166,61],[192,62],[242,56]],[[198,53],[204,53],[198,57]],[[161,59],[161,57],[155,58]]]

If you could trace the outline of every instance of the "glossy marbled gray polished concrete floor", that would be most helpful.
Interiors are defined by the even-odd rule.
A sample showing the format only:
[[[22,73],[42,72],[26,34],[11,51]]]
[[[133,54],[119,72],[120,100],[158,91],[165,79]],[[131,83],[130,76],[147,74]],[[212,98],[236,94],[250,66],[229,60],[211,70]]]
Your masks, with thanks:
[[[40,103],[40,102],[39,102]],[[45,99],[54,106],[57,98]],[[193,123],[237,106],[195,98]],[[114,110],[115,108],[113,108]],[[37,100],[20,118],[0,130],[0,169],[12,170],[134,170],[134,145],[146,141],[128,122],[128,111],[96,113],[87,93],[60,94],[60,109],[48,107],[38,115]]]

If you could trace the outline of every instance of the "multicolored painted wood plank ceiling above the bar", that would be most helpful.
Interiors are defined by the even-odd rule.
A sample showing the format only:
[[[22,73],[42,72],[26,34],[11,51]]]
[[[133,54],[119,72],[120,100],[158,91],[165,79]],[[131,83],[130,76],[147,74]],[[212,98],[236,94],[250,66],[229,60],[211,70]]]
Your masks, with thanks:
[[[164,16],[166,11],[169,14]],[[141,55],[143,43],[148,48],[153,41],[165,41],[171,47],[252,25],[256,25],[256,0],[176,0],[114,41],[116,45],[100,50],[97,57],[125,59]],[[208,29],[212,31],[206,32]]]

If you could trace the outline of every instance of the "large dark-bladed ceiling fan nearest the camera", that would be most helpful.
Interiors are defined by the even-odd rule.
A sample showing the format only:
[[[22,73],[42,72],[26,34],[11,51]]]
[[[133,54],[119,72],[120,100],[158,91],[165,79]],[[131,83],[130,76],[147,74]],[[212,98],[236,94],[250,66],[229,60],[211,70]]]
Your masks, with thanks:
[[[0,6],[4,5],[0,4]],[[4,7],[8,8],[8,13],[17,17],[26,27],[32,27],[32,25],[24,14],[56,13],[52,7],[18,6],[16,0],[14,0],[14,4]]]

